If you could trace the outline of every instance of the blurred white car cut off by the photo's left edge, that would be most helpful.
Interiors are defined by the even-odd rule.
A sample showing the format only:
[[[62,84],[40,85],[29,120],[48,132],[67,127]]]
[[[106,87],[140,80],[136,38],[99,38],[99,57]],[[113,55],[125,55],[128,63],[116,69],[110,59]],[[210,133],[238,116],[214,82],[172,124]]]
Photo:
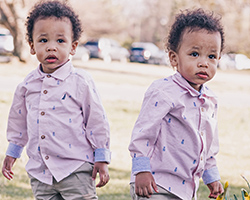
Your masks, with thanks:
[[[6,28],[0,29],[0,55],[8,55],[13,53],[14,42],[13,36]]]

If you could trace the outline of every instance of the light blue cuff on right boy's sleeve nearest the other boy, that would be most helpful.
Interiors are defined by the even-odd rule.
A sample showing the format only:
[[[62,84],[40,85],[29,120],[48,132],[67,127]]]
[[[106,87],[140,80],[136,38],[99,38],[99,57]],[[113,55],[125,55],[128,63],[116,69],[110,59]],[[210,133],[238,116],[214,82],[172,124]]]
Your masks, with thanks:
[[[132,159],[132,174],[136,175],[139,172],[151,172],[148,157],[135,157]]]

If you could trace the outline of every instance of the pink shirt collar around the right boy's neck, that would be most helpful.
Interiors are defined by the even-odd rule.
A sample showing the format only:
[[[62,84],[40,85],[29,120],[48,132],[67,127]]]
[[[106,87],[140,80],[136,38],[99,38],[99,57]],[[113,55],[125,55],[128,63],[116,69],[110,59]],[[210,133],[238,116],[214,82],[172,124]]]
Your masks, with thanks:
[[[187,90],[192,96],[206,95],[208,97],[216,97],[206,85],[202,85],[199,92],[195,90],[178,71],[173,75],[173,81],[184,90]]]

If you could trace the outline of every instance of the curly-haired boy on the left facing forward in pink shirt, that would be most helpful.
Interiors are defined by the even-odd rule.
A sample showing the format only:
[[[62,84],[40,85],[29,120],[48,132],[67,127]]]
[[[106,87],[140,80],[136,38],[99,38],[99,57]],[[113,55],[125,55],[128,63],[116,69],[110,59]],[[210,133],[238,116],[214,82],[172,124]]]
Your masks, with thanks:
[[[30,53],[40,64],[16,89],[10,109],[9,147],[2,173],[26,146],[26,170],[36,199],[98,199],[109,181],[109,124],[95,84],[73,67],[82,33],[74,11],[60,1],[36,4],[27,18]]]

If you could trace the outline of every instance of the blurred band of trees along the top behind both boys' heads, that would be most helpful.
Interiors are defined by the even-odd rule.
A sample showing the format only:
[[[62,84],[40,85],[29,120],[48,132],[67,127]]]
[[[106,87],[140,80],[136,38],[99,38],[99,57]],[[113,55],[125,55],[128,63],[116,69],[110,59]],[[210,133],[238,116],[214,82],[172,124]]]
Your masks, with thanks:
[[[40,0],[0,0],[0,23],[14,36],[20,60],[29,55],[24,45],[25,19],[30,7]],[[250,0],[61,0],[68,1],[79,14],[84,28],[83,41],[111,37],[126,42],[154,42],[163,48],[175,14],[202,7],[222,16],[226,52],[250,55]],[[83,42],[82,41],[82,42]]]

